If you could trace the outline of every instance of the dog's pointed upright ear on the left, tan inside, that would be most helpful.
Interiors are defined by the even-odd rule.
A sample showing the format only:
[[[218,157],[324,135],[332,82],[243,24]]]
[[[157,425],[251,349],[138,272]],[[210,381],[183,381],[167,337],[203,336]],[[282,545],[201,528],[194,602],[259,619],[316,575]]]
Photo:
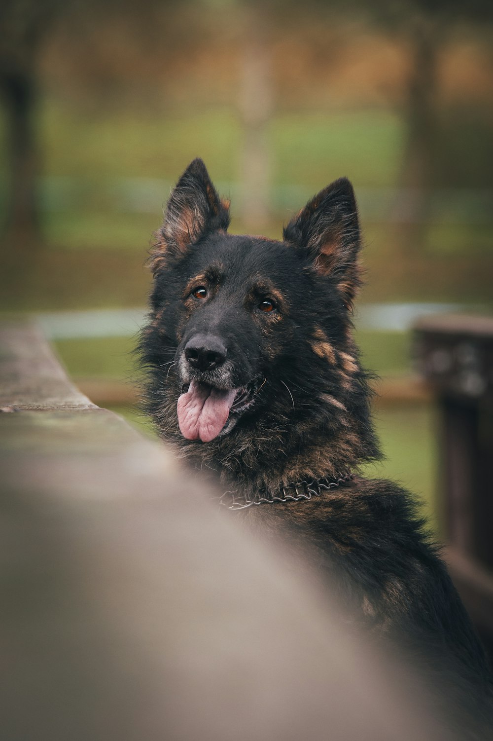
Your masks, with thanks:
[[[152,251],[153,268],[165,262],[167,253],[179,256],[207,232],[228,226],[229,202],[219,198],[204,162],[194,159],[171,193]]]

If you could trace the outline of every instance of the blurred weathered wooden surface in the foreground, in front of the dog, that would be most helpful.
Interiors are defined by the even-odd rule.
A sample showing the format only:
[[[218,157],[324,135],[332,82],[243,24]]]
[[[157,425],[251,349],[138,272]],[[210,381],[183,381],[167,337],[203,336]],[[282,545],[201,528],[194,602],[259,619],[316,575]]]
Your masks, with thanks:
[[[37,330],[1,340],[6,739],[483,738],[286,545],[91,405]]]

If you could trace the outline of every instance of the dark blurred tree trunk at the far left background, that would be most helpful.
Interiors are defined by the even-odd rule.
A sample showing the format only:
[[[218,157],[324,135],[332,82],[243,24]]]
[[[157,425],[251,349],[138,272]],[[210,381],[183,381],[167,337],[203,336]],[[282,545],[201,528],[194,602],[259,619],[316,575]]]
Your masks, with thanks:
[[[41,241],[37,179],[36,64],[42,41],[64,10],[62,0],[2,0],[0,3],[0,91],[9,156],[8,242],[30,250]]]

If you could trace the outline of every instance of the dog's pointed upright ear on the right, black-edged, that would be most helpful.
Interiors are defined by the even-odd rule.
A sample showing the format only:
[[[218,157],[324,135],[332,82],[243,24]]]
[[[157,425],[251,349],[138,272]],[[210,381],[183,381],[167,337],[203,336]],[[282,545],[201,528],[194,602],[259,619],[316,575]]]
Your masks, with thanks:
[[[360,285],[360,227],[349,180],[335,180],[312,198],[285,227],[284,239],[306,253],[319,275],[331,277],[351,308]]]

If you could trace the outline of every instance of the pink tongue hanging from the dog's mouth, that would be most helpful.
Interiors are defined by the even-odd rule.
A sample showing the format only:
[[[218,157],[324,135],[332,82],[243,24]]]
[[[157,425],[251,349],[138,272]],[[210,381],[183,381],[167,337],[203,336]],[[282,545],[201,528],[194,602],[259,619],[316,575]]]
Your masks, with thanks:
[[[181,434],[189,440],[200,437],[210,442],[226,424],[236,390],[219,391],[201,383],[190,383],[187,393],[178,399],[178,425]]]

